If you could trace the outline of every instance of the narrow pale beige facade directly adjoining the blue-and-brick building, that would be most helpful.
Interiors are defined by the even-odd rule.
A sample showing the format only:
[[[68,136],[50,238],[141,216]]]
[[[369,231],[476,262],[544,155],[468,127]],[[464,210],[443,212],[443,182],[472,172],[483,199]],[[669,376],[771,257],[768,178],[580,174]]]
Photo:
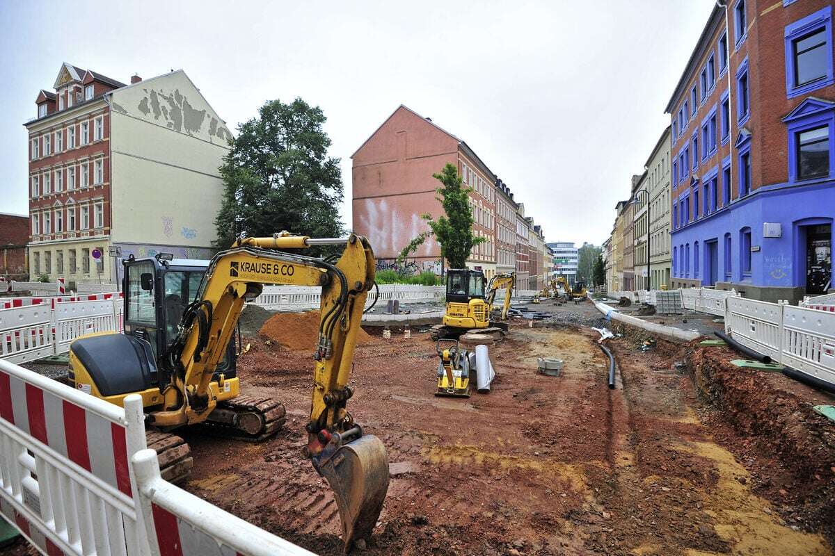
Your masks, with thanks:
[[[650,288],[670,286],[670,128],[655,143],[646,161],[650,193]]]

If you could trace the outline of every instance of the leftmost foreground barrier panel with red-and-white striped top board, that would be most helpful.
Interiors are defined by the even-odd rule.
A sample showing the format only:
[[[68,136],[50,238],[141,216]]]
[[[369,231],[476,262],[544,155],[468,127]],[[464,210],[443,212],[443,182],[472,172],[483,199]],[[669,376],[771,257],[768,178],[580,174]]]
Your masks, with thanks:
[[[146,556],[130,457],[142,401],[126,409],[0,361],[3,514],[42,553]]]

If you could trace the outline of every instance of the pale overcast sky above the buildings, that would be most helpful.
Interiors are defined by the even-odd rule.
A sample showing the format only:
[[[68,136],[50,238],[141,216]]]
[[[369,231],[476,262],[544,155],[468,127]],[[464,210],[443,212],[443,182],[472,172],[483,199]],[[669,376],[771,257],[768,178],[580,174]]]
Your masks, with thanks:
[[[546,241],[600,244],[713,4],[0,0],[0,212],[28,213],[22,124],[61,63],[124,83],[182,68],[233,133],[267,99],[319,105],[349,227],[349,157],[402,103],[466,141]]]

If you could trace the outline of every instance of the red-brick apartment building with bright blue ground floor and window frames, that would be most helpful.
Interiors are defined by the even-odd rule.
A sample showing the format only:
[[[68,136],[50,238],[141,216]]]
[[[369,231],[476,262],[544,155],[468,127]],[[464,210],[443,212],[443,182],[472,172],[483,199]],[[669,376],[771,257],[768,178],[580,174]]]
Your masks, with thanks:
[[[833,58],[830,0],[717,3],[666,108],[674,285],[832,287]]]

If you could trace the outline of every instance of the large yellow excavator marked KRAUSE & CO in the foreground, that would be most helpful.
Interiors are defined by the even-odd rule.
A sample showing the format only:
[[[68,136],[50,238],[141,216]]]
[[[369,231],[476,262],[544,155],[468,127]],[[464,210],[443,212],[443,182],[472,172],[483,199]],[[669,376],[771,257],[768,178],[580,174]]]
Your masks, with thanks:
[[[334,244],[344,246],[336,261],[298,254]],[[370,536],[388,489],[386,448],[346,408],[357,332],[374,285],[367,239],[282,232],[239,238],[203,268],[200,261],[159,254],[129,258],[124,269],[124,334],[76,339],[69,378],[76,388],[116,405],[131,393],[142,397],[149,447],[157,449],[168,480],[187,476],[191,467],[190,457],[181,457],[188,446],[171,430],[200,425],[261,440],[281,428],[281,403],[240,395],[235,328],[245,301],[256,298],[263,284],[321,286],[306,454],[335,494],[346,550]],[[167,457],[172,449],[174,459]]]

